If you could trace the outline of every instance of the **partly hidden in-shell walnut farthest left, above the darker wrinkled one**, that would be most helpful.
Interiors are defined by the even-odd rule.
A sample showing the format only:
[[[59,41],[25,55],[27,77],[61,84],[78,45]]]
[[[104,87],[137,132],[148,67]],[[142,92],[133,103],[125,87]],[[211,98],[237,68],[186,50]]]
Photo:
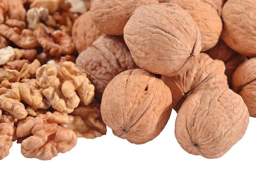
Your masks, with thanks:
[[[88,46],[97,40],[101,33],[92,22],[90,11],[81,14],[72,26],[72,39],[78,53],[81,53]]]

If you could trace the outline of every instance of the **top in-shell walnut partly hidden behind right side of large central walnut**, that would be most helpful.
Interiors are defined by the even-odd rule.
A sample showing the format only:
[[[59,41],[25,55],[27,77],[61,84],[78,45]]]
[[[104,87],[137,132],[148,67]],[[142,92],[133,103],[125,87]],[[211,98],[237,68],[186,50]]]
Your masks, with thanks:
[[[200,29],[202,36],[202,50],[206,51],[215,46],[222,31],[222,20],[218,11],[202,0],[169,0],[185,9]]]

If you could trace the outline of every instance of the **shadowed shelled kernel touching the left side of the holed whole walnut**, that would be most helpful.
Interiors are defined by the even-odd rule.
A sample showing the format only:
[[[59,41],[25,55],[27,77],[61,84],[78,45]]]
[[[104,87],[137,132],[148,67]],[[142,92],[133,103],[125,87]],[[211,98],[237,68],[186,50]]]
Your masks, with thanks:
[[[90,106],[78,106],[68,116],[69,124],[61,124],[61,126],[76,132],[77,137],[94,139],[106,135],[106,124],[101,119],[100,110]]]

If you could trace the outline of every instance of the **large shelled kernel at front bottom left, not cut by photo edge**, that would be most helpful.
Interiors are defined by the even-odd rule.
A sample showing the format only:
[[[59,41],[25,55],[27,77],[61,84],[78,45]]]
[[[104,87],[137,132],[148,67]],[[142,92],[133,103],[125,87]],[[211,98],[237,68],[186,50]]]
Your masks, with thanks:
[[[60,117],[60,115],[62,116]],[[23,124],[25,129],[27,127],[31,129],[31,136],[21,142],[22,155],[28,158],[49,160],[57,156],[58,153],[71,150],[76,146],[76,133],[63,126],[58,126],[67,121],[69,121],[67,113],[47,112],[32,118],[32,122],[30,120],[27,125]]]

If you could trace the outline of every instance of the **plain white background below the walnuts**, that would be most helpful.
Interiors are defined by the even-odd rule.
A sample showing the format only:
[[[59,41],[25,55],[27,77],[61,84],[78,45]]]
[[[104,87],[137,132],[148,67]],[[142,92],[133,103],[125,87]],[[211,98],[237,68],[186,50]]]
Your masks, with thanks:
[[[256,118],[250,117],[244,137],[225,155],[206,159],[184,151],[174,135],[173,110],[164,130],[152,141],[136,145],[112,134],[95,139],[79,138],[76,146],[66,153],[59,153],[51,160],[25,158],[20,144],[13,142],[7,157],[0,160],[0,167],[18,170],[58,168],[58,170],[255,170],[256,169]]]

